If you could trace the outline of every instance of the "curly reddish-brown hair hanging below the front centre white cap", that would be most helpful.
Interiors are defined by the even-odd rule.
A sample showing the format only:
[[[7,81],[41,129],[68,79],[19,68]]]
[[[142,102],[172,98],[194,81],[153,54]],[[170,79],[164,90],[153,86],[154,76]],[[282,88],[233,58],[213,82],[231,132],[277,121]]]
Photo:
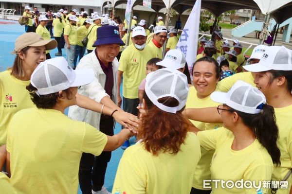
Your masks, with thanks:
[[[157,156],[161,151],[163,153],[176,155],[180,151],[180,146],[184,143],[189,126],[186,118],[183,117],[182,110],[176,114],[165,112],[152,102],[144,93],[144,99],[148,106],[147,113],[143,116],[137,138],[143,139],[145,149]],[[158,102],[165,106],[178,106],[179,102],[173,97],[163,97]]]

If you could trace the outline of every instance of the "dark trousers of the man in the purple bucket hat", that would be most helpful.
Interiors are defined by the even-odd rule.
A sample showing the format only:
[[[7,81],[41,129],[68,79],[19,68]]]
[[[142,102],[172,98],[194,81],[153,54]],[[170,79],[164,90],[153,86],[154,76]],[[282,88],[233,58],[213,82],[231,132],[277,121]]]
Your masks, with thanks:
[[[112,117],[102,115],[100,118],[99,129],[106,135],[113,136]],[[83,153],[79,167],[79,185],[82,194],[91,194],[93,191],[100,191],[105,182],[105,175],[110,161],[111,152],[102,152],[95,156]]]

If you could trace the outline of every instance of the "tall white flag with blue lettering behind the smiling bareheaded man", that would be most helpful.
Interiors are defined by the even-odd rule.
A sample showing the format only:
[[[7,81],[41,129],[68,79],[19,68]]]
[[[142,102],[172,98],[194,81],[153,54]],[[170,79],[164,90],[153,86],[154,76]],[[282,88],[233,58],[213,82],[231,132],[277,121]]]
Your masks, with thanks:
[[[201,14],[201,0],[196,0],[191,14],[184,25],[182,35],[176,49],[180,49],[185,56],[190,73],[197,56],[199,38],[199,24]],[[191,76],[192,77],[192,76]]]

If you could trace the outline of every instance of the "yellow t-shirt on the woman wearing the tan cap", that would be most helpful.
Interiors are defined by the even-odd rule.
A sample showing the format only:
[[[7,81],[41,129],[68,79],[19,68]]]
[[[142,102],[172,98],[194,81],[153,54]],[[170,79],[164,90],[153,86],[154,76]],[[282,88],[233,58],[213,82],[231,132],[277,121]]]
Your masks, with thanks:
[[[21,109],[35,107],[26,86],[30,81],[21,81],[10,70],[0,72],[0,145],[6,144],[7,126],[13,115]]]

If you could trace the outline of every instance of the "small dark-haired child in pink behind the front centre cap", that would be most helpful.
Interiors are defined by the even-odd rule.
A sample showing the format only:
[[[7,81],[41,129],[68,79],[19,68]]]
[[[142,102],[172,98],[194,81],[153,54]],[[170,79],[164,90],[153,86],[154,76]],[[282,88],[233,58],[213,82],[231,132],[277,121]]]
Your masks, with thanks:
[[[160,65],[156,65],[156,63],[158,63],[159,61],[161,61],[160,58],[152,58],[150,59],[147,64],[146,64],[146,75],[148,75],[148,73],[151,73],[153,71],[162,69],[162,66]],[[144,78],[140,84],[140,86],[138,87],[138,98],[139,98],[139,104],[142,103],[142,99],[143,99],[143,95],[144,95],[144,89],[145,89],[145,84],[146,84],[146,78]]]

